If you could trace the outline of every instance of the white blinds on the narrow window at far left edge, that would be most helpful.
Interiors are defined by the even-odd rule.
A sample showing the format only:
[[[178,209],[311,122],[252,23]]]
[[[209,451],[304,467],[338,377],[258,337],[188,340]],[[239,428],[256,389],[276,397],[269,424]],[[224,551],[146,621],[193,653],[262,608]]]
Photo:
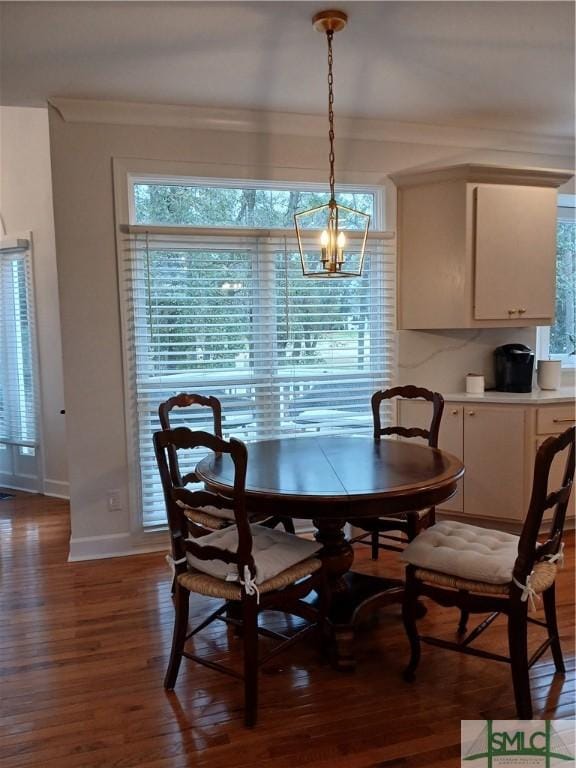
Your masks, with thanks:
[[[0,239],[0,443],[35,447],[38,396],[29,241]]]

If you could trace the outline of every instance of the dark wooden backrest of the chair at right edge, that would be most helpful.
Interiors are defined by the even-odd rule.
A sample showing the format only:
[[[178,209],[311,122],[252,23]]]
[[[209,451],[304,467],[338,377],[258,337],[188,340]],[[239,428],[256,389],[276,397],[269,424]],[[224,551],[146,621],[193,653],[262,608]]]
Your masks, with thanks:
[[[560,552],[566,510],[574,482],[575,436],[576,427],[570,427],[561,435],[545,440],[536,453],[532,496],[520,534],[518,557],[514,564],[514,578],[522,584],[526,582],[526,577],[532,572],[536,561],[546,555],[553,556]],[[550,467],[562,451],[566,451],[562,485],[554,491],[549,491]],[[548,538],[538,543],[544,512],[552,507],[555,507],[555,510]]]

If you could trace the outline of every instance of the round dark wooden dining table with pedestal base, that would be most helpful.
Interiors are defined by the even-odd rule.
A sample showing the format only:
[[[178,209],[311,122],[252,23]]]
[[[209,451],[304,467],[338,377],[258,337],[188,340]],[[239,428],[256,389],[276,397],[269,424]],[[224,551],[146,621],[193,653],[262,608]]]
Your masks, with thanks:
[[[230,493],[229,456],[210,455],[197,467],[209,490]],[[403,583],[350,570],[354,551],[348,520],[425,509],[456,493],[462,462],[437,448],[372,437],[306,435],[248,444],[246,505],[252,514],[312,520],[331,587],[334,660],[354,667],[354,625],[369,607],[398,602]]]

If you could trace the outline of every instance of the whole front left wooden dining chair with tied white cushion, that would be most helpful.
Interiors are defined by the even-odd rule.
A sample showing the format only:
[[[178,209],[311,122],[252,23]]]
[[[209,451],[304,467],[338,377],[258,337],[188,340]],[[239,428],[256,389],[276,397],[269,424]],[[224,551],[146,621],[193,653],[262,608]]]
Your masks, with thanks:
[[[234,468],[231,498],[205,490],[190,491],[174,482],[170,454],[195,448],[208,449],[222,459],[231,459]],[[317,557],[321,545],[249,522],[244,491],[248,452],[240,440],[231,438],[226,441],[207,432],[193,432],[179,427],[156,432],[154,450],[166,502],[176,573],[174,634],[164,686],[168,690],[174,688],[183,657],[243,679],[245,723],[252,726],[257,716],[258,667],[311,630],[317,629],[320,634],[325,630],[329,593],[322,561]],[[192,538],[190,521],[184,514],[183,505],[231,508],[236,525],[213,531],[199,539]],[[318,608],[304,601],[312,590],[318,593]],[[224,603],[189,632],[189,598],[192,592],[220,598]],[[230,612],[228,607],[231,603],[235,604],[236,610]],[[309,624],[292,636],[267,628],[260,629],[258,614],[267,610],[300,616]],[[230,615],[239,618],[230,618]],[[193,648],[186,650],[189,640],[217,620],[241,624],[244,646],[242,673],[196,655]],[[259,633],[280,641],[260,660]]]

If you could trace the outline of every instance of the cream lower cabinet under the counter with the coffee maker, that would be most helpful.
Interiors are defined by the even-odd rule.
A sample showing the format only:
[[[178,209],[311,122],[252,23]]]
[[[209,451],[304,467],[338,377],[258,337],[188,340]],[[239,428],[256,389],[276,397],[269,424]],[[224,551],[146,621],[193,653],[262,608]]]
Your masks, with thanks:
[[[429,403],[402,400],[398,409],[403,426],[429,426]],[[445,403],[439,447],[461,459],[466,473],[457,495],[442,504],[439,512],[487,525],[501,521],[502,527],[518,529],[530,503],[536,451],[547,437],[569,426],[571,419],[574,407],[570,404]],[[557,457],[550,490],[561,485],[562,473],[563,457]],[[575,508],[572,498],[569,517],[573,518]]]

